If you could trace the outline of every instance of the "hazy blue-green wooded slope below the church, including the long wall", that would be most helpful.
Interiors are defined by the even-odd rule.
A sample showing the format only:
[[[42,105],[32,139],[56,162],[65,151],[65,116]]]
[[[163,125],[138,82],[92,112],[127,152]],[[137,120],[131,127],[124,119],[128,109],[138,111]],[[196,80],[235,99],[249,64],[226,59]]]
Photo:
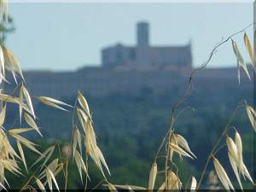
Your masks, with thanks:
[[[89,102],[98,142],[115,181],[145,184],[147,180],[142,178],[147,177],[155,151],[166,133],[171,108],[184,93],[189,70],[84,68],[73,73],[26,72],[25,76],[34,96],[53,96],[73,105],[76,91],[81,90]],[[192,95],[182,106],[183,113],[179,111],[175,125],[177,132],[189,139],[198,157],[194,166],[190,166],[195,175],[241,99],[253,103],[253,82],[242,76],[239,85],[235,68],[206,69],[195,75]],[[68,141],[72,113],[43,106],[35,99],[34,102],[38,125],[47,141],[56,138]],[[15,119],[17,108],[11,110],[9,124]],[[252,139],[247,134],[251,128],[244,111],[238,117],[234,125],[242,126],[243,139]],[[245,146],[245,156],[252,153],[253,148]],[[252,160],[245,160],[248,165],[253,164]],[[133,172],[134,169],[137,171]],[[124,172],[131,176],[130,180],[123,177]],[[188,172],[180,174],[188,176]]]

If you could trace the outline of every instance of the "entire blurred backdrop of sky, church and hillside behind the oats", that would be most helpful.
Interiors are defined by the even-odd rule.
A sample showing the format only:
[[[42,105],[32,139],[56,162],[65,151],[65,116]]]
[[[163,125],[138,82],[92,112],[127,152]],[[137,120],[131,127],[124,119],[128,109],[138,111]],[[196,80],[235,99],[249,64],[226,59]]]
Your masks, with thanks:
[[[51,96],[73,105],[80,90],[89,102],[110,180],[143,186],[166,135],[172,107],[183,96],[193,68],[207,61],[223,38],[253,23],[253,3],[21,2],[10,3],[9,11],[9,26],[0,28],[1,41],[20,61],[32,96]],[[253,42],[253,26],[246,32]],[[234,40],[249,63],[243,33]],[[230,42],[195,74],[192,85],[175,125],[197,156],[177,163],[184,185],[191,174],[200,176],[237,104],[247,100],[253,105],[253,79],[241,73],[238,84]],[[15,82],[6,89],[14,90]],[[28,137],[39,141],[42,150],[55,141],[67,144],[72,112],[43,106],[34,97],[33,102],[44,137]],[[15,106],[8,109],[9,125],[17,113]],[[253,130],[245,110],[237,113],[232,125],[242,135],[244,160],[253,175]],[[223,148],[218,158],[229,167],[225,154]],[[27,152],[27,158],[32,162],[36,155]],[[76,167],[70,172],[70,188],[82,187]],[[93,166],[90,172],[92,187],[101,176]],[[25,182],[11,179],[17,188]]]

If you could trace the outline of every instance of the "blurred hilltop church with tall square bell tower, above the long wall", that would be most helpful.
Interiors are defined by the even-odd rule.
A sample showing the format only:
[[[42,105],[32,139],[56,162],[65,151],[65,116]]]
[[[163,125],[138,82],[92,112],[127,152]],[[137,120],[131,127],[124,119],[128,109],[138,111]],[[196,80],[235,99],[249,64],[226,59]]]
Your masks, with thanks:
[[[149,24],[137,23],[137,45],[125,46],[116,44],[102,49],[102,66],[119,65],[175,65],[191,67],[191,45],[184,46],[151,46],[149,42]]]

